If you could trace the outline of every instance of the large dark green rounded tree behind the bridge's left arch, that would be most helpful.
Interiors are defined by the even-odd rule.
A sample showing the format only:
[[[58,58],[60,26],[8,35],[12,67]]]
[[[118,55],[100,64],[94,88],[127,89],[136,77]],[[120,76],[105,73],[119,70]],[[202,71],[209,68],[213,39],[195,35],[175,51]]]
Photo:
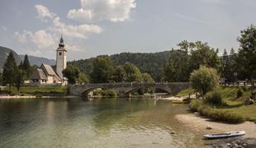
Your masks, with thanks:
[[[108,56],[93,59],[91,79],[93,83],[111,82],[114,72],[114,64]]]

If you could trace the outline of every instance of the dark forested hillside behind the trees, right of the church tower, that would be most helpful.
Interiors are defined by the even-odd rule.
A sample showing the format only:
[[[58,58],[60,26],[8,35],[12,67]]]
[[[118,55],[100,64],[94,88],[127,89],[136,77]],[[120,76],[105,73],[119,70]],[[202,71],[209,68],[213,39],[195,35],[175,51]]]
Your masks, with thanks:
[[[111,59],[116,65],[131,62],[140,68],[141,72],[148,72],[155,81],[160,81],[162,76],[162,67],[170,57],[170,51],[159,53],[119,53],[111,55]],[[68,65],[79,67],[79,69],[87,74],[92,72],[93,58],[68,62]]]

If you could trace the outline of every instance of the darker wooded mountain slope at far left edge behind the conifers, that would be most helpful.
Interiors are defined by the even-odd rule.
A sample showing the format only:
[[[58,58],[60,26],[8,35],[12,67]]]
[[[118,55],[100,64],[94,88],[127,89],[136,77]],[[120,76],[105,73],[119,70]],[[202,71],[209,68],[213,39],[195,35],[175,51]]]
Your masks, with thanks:
[[[15,58],[17,64],[19,64],[21,62],[20,56],[14,50],[0,46],[0,72],[2,72],[2,67],[4,65],[4,62],[6,61],[7,56],[9,55],[9,53],[11,51],[14,55],[14,58]]]

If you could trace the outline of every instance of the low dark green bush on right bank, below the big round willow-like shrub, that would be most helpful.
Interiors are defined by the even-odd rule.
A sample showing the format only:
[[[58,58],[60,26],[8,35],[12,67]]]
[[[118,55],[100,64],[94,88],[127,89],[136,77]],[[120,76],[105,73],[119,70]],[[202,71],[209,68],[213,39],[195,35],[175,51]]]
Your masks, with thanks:
[[[224,104],[224,101],[219,92],[213,91],[206,94],[204,103],[211,104],[211,105],[222,105]]]

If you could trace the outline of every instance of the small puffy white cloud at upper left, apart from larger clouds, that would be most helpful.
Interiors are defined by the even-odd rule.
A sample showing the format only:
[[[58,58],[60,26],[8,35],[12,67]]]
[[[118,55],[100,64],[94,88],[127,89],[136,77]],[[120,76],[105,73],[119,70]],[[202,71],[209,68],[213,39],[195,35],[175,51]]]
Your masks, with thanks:
[[[38,13],[37,17],[40,18],[40,20],[47,21],[47,20],[45,20],[46,18],[50,18],[50,19],[54,18],[55,13],[50,12],[47,7],[45,7],[43,5],[36,5],[35,7],[36,7],[36,11]]]

